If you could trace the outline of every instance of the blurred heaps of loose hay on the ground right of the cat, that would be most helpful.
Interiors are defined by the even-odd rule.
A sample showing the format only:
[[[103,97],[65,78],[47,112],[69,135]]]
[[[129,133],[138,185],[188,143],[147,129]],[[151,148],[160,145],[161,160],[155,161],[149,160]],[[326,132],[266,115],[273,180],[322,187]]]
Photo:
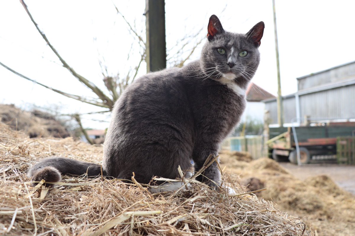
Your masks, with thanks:
[[[230,158],[221,155],[221,162],[229,167]],[[241,183],[253,183],[250,179],[254,182],[255,179],[260,180],[267,191],[259,192],[258,196],[274,201],[282,211],[306,217],[305,223],[308,226],[310,223],[316,235],[355,235],[355,196],[339,188],[327,175],[301,181],[267,158],[239,166],[229,171],[238,174]]]

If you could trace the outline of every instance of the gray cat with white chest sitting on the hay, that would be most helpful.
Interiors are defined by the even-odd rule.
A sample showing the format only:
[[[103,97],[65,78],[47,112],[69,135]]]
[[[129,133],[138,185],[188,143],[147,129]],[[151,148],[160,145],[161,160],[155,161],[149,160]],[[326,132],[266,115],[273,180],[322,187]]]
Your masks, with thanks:
[[[245,91],[260,61],[264,23],[246,34],[223,29],[209,18],[200,60],[182,68],[146,74],[126,88],[115,103],[104,145],[103,175],[140,183],[153,176],[175,179],[178,166],[191,160],[200,169],[240,120]],[[61,174],[101,174],[101,166],[63,157],[48,157],[29,169],[32,181],[58,182]],[[220,183],[217,163],[197,180]]]

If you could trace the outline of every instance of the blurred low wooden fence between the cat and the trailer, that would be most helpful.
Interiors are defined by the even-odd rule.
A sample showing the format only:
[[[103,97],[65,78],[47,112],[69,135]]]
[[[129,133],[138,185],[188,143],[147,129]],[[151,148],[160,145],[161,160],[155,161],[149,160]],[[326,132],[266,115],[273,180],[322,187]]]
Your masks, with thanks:
[[[230,151],[246,151],[253,159],[263,157],[263,136],[230,137],[224,140],[222,149]]]

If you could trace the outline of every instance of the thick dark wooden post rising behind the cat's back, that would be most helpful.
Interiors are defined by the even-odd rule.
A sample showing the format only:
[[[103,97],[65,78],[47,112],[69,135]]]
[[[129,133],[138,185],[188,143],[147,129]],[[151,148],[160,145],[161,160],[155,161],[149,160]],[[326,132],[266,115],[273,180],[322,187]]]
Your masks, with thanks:
[[[165,2],[146,0],[147,72],[166,67]]]

